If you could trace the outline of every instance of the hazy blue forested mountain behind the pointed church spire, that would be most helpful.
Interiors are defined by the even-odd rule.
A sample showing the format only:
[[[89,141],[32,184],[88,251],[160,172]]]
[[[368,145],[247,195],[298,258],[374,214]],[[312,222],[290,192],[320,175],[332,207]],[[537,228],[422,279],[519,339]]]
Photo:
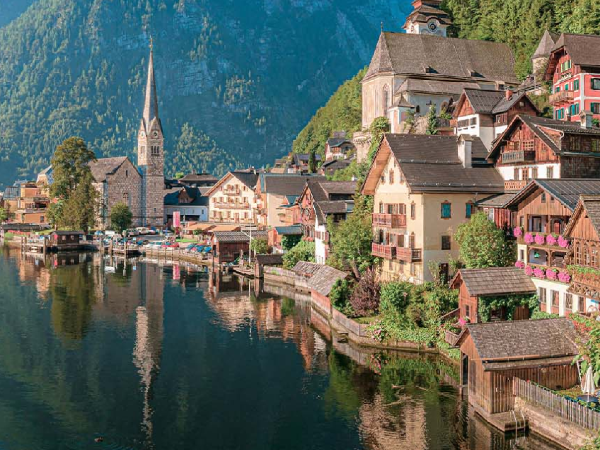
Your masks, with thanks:
[[[409,0],[36,0],[0,28],[0,184],[32,176],[73,134],[99,156],[133,156],[150,35],[169,174],[272,162],[370,61],[380,20],[400,29],[411,9]]]

